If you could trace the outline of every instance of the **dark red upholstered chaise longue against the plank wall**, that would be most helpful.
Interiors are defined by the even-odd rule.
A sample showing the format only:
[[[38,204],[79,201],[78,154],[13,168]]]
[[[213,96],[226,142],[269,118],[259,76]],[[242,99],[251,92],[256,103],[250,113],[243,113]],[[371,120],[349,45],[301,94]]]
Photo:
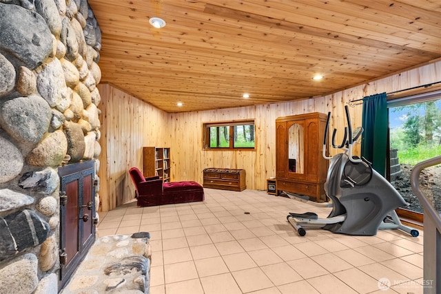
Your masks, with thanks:
[[[136,188],[137,204],[140,207],[175,204],[204,200],[204,189],[197,182],[164,182],[158,176],[144,178],[138,168],[129,170]]]

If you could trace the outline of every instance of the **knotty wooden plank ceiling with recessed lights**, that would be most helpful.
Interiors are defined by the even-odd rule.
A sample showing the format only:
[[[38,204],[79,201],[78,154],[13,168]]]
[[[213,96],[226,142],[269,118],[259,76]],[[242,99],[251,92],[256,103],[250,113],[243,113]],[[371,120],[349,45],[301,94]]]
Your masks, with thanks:
[[[321,96],[441,57],[439,0],[88,2],[101,83],[165,112]]]

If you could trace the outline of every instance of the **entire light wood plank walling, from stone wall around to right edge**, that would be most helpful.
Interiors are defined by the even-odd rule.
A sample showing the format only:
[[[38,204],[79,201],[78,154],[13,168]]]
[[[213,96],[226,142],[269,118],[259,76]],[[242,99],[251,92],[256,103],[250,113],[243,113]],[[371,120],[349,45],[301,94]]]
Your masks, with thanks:
[[[266,179],[275,176],[276,118],[309,112],[331,112],[331,129],[345,125],[344,106],[349,101],[382,92],[416,87],[441,81],[441,61],[430,63],[378,81],[358,85],[328,96],[303,101],[218,109],[203,112],[167,114],[150,104],[117,90],[99,85],[101,100],[100,160],[101,209],[107,211],[134,195],[127,170],[141,167],[143,146],[170,147],[172,181],[203,182],[206,167],[245,169],[247,189],[266,189]],[[350,107],[354,126],[361,125],[362,106]],[[202,149],[202,124],[210,121],[254,119],[255,151],[205,151]],[[338,140],[342,132],[338,132]],[[358,150],[359,151],[359,150]],[[332,150],[331,154],[336,151]]]

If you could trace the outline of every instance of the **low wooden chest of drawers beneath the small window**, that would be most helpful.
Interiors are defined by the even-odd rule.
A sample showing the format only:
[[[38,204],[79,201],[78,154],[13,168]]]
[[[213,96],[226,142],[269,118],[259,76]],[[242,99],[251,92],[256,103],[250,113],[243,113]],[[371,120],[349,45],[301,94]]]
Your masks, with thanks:
[[[203,170],[204,188],[243,191],[247,189],[245,169],[216,169]]]

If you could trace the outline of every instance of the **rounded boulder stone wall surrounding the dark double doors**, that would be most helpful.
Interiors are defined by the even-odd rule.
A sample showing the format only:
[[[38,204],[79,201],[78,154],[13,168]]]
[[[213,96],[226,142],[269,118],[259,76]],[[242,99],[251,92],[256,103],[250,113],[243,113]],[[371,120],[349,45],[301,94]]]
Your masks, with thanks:
[[[99,170],[100,49],[86,0],[0,0],[0,293],[58,292],[57,167]]]

